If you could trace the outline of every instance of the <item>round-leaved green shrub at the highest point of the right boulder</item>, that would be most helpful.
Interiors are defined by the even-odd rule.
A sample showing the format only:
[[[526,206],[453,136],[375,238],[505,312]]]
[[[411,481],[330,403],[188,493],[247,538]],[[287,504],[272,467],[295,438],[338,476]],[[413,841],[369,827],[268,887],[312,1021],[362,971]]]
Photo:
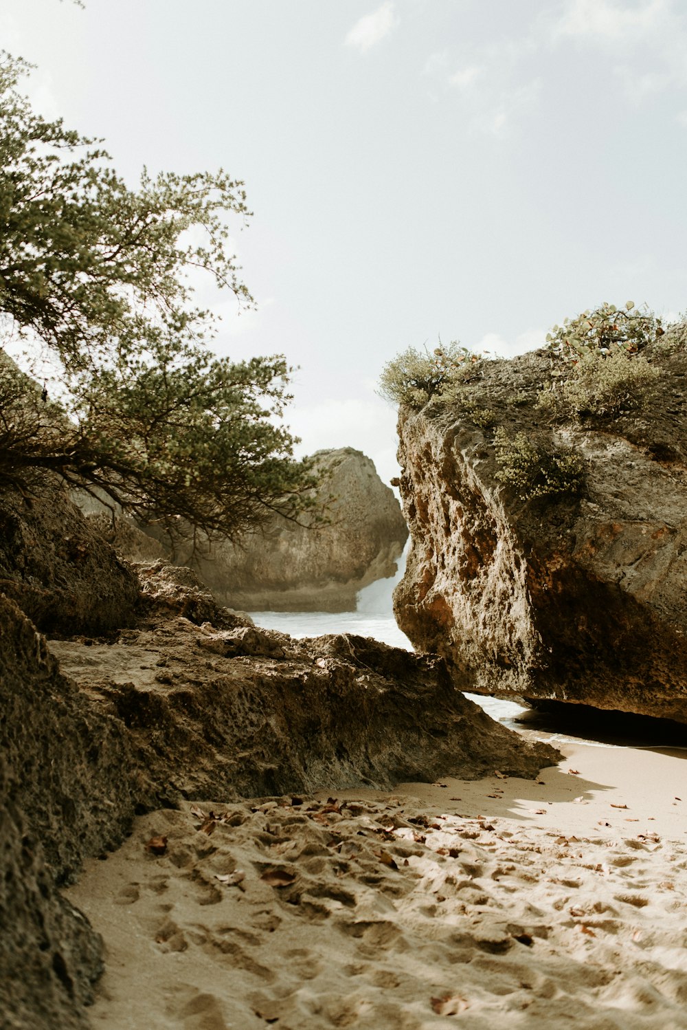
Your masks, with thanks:
[[[602,304],[594,311],[583,311],[576,318],[566,318],[546,334],[546,342],[554,354],[564,360],[579,360],[594,351],[610,353],[620,347],[636,354],[647,344],[663,335],[661,319],[643,308],[638,311],[632,301],[624,308]]]

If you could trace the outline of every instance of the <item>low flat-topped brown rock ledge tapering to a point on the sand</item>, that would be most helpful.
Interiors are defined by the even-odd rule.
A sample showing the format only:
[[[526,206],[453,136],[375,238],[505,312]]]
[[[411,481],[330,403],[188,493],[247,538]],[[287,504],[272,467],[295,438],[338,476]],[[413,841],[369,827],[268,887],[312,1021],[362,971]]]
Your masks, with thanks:
[[[294,641],[178,617],[116,644],[50,644],[61,667],[129,729],[149,793],[255,796],[391,787],[557,760],[457,691],[441,659],[359,637]]]

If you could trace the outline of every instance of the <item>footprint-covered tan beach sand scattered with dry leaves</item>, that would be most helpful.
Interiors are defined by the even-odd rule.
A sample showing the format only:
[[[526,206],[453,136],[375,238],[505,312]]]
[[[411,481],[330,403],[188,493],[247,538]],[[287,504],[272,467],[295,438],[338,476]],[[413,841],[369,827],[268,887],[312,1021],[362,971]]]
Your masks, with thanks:
[[[68,891],[107,948],[93,1026],[687,1028],[687,752],[563,750],[537,783],[138,819]]]

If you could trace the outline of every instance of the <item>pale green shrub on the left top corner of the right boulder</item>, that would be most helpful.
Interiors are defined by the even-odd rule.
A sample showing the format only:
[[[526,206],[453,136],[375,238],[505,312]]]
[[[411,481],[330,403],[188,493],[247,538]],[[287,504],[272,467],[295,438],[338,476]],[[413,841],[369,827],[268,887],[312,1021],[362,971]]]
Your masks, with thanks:
[[[456,390],[480,358],[481,354],[455,341],[447,347],[436,347],[431,354],[427,349],[421,353],[408,347],[385,366],[379,376],[379,393],[394,404],[411,408],[423,408],[433,397],[456,400]]]

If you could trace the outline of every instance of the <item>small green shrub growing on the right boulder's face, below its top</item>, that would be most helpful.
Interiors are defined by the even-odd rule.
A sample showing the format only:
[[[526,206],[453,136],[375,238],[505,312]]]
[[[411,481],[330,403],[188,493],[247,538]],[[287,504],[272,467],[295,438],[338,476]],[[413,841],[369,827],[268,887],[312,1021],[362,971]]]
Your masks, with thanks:
[[[579,493],[584,485],[584,459],[570,448],[535,442],[527,433],[511,439],[500,426],[495,436],[496,478],[512,486],[522,501],[556,493]]]

